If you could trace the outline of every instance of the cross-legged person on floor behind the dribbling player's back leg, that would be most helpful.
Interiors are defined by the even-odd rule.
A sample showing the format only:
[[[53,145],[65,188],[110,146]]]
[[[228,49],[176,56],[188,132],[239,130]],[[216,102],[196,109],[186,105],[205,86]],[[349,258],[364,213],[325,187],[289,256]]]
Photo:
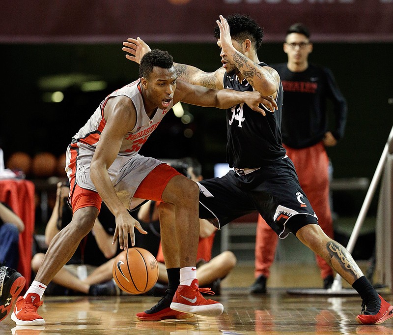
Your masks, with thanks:
[[[56,205],[45,229],[45,242],[49,244],[55,235],[71,221],[72,211],[67,204],[69,186],[57,184]],[[102,204],[94,227],[79,244],[70,261],[55,275],[45,291],[47,295],[70,294],[69,290],[93,296],[119,295],[120,289],[113,281],[113,257],[118,253],[117,240],[112,244],[115,217]],[[37,272],[43,253],[31,260],[31,268]],[[49,288],[52,286],[52,290]]]

